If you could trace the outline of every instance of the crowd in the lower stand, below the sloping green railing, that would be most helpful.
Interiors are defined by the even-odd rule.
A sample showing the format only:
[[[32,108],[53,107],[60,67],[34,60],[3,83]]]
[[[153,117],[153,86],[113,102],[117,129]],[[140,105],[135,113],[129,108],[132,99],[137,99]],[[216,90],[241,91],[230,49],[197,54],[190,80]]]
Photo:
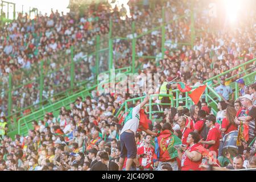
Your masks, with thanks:
[[[255,84],[250,87],[250,92],[256,94]],[[62,107],[58,117],[55,118],[52,113],[48,113],[43,120],[32,122],[33,129],[29,131],[28,136],[16,135],[15,140],[8,136],[3,137],[0,147],[0,169],[118,170],[122,124],[114,115],[122,99],[125,97],[115,94],[88,96],[84,101],[79,97],[70,105],[70,109]],[[160,122],[149,124],[149,128],[158,135],[151,136],[142,131],[134,135],[138,149],[137,158],[141,164],[139,169],[207,169],[207,156],[203,156],[202,152],[196,152],[195,147],[205,144],[205,148],[218,152],[221,136],[237,130],[240,121],[237,123],[235,118],[242,120],[243,117],[250,117],[249,121],[246,120],[249,122],[249,141],[242,144],[242,150],[239,151],[241,155],[232,156],[229,152],[225,156],[220,155],[216,164],[219,167],[215,165],[213,169],[255,168],[256,142],[253,139],[256,111],[252,102],[249,94],[245,94],[241,102],[238,100],[229,105],[220,101],[217,117],[223,117],[221,125],[218,125],[218,119],[210,114],[210,107],[205,101],[201,102],[201,106],[191,106],[190,110],[183,106],[165,109],[164,114],[160,116]],[[175,135],[176,140],[187,145],[187,148],[181,146],[177,148],[178,152],[172,151],[173,158],[170,160],[166,160],[166,156],[160,151],[160,156],[155,161],[155,144],[152,143],[152,137],[159,138],[166,133],[170,133],[168,137]],[[213,141],[214,144],[210,144]],[[180,161],[183,161],[183,166]],[[135,164],[130,170],[136,170]]]

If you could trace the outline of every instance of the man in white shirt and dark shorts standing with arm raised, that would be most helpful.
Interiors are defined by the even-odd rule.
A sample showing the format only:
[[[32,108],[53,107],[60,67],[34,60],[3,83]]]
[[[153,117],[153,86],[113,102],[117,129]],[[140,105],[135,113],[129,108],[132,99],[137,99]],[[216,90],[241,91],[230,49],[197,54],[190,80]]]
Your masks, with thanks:
[[[134,162],[138,168],[141,167],[139,160],[136,158],[137,156],[137,147],[135,142],[135,133],[138,129],[145,131],[147,134],[156,135],[156,133],[144,129],[144,127],[139,125],[140,113],[139,110],[147,104],[150,99],[150,95],[154,93],[153,89],[148,91],[147,96],[144,98],[144,101],[137,105],[136,107],[130,107],[129,111],[125,116],[125,121],[123,125],[123,129],[120,134],[120,142],[121,142],[121,155],[119,158],[119,171],[123,168],[123,163],[126,161],[126,171],[130,170],[131,164]]]

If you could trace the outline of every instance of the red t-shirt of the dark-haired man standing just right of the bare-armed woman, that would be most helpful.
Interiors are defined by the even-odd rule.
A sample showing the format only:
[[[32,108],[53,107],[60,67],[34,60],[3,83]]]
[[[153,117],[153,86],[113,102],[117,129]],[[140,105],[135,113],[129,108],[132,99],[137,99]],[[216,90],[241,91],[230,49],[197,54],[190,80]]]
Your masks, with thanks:
[[[210,148],[208,148],[208,144],[205,144],[205,148],[209,149],[210,151],[215,151],[216,155],[218,155],[218,147],[220,146],[220,130],[216,127],[209,130],[206,141],[210,140],[214,140],[215,144],[213,144]]]

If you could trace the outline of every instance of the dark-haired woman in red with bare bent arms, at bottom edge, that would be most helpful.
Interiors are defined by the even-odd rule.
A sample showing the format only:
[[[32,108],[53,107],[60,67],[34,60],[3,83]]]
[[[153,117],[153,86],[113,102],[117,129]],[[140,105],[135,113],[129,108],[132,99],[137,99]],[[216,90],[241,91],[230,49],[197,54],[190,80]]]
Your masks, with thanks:
[[[181,160],[181,171],[200,171],[199,165],[202,162],[202,155],[197,150],[197,147],[200,146],[198,143],[200,140],[200,135],[195,132],[191,132],[187,138],[187,147],[181,146],[181,150],[184,151],[181,153],[181,150],[177,149],[179,159]]]

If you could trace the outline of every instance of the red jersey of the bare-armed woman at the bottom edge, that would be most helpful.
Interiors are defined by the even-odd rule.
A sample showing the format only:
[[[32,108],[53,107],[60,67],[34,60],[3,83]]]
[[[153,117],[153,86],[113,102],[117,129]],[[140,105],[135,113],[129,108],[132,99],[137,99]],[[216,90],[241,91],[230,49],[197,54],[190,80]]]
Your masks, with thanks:
[[[200,146],[200,143],[196,143],[193,146],[188,146],[187,150],[189,152],[197,151],[196,147]],[[191,159],[188,158],[188,156],[183,152],[182,160],[181,160],[181,171],[200,171],[201,168],[199,168],[199,165],[202,162],[202,157],[199,161],[194,162]]]

